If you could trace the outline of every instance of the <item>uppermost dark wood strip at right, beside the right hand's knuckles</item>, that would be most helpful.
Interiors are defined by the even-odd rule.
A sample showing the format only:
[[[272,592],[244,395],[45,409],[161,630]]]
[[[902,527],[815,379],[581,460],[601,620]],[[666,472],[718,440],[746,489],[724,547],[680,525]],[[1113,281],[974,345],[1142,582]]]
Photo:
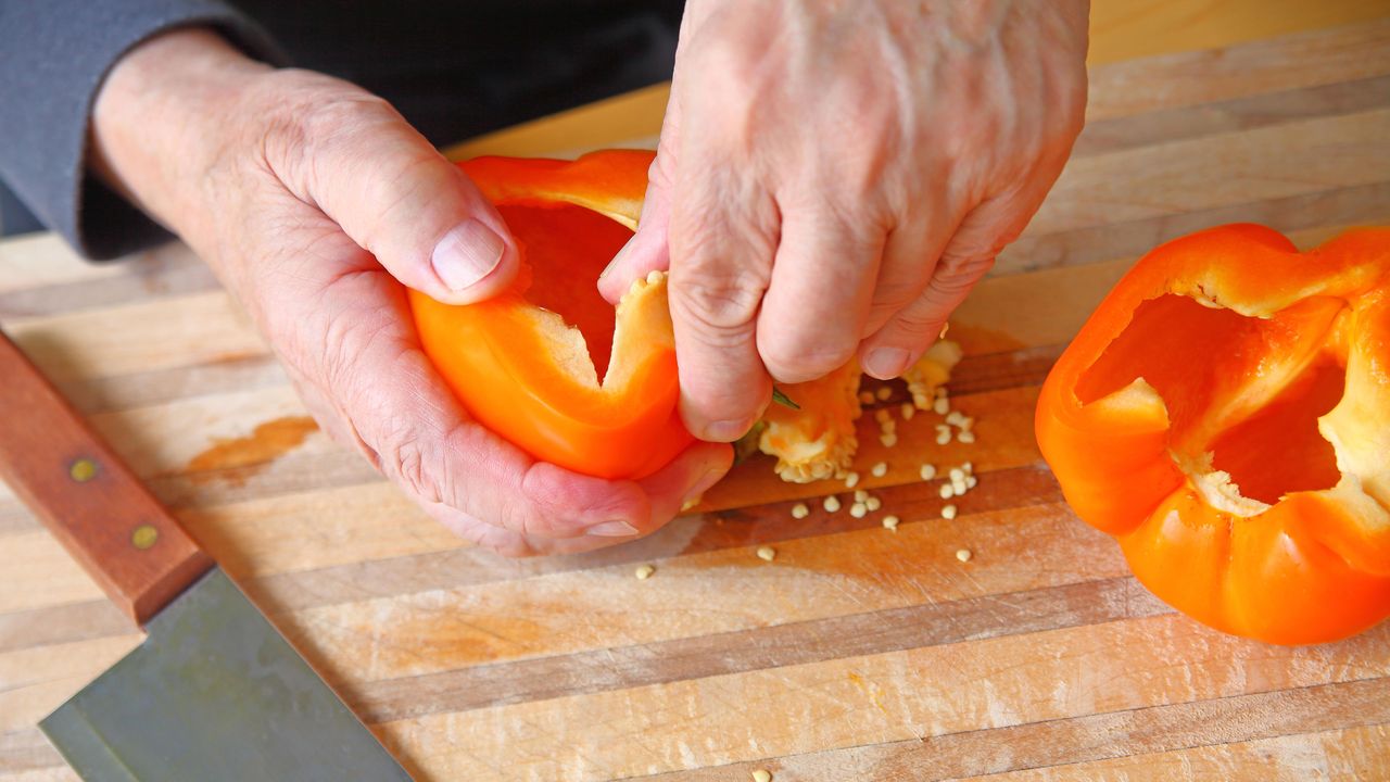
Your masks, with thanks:
[[[1390,106],[1390,75],[1266,92],[1087,122],[1072,157],[1152,146]]]

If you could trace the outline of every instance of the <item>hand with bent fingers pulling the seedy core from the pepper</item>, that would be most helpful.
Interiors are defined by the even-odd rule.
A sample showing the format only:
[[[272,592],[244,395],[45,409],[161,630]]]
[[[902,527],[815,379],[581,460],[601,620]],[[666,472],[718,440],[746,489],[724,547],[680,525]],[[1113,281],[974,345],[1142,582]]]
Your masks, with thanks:
[[[637,235],[670,267],[681,412],[739,437],[771,381],[890,378],[1056,181],[1086,104],[1086,0],[689,0]],[[770,32],[774,31],[774,32]]]

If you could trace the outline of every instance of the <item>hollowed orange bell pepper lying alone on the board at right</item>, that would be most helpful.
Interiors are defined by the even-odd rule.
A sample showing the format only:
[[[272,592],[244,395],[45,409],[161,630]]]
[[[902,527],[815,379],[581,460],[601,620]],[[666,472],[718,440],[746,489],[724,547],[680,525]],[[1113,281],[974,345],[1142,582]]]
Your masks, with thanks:
[[[1308,253],[1226,225],[1144,256],[1056,362],[1036,430],[1155,596],[1280,644],[1390,615],[1390,230]]]

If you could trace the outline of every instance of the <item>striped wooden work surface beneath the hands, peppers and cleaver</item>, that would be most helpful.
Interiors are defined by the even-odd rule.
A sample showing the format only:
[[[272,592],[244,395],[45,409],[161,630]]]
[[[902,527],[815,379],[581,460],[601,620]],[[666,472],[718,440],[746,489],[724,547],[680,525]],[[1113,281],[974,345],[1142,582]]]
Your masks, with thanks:
[[[1070,513],[1030,423],[1147,248],[1390,223],[1390,4],[1097,0],[1093,29],[1076,156],[954,319],[979,440],[937,447],[919,415],[885,449],[865,416],[865,519],[755,459],[651,538],[503,561],[329,444],[179,246],[90,266],[0,242],[0,324],[420,779],[1390,779],[1390,625],[1282,648],[1172,612]],[[649,135],[662,97],[466,150]],[[917,468],[965,461],[979,487],[942,520]],[[0,781],[75,779],[35,725],[139,640],[0,487]]]

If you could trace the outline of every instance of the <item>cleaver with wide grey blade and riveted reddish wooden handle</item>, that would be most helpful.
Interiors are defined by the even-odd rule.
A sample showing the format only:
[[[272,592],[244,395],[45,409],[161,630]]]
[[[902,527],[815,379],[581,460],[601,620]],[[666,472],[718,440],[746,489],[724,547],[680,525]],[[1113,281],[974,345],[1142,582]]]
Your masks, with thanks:
[[[83,779],[410,779],[3,334],[0,476],[147,632],[39,725]]]

